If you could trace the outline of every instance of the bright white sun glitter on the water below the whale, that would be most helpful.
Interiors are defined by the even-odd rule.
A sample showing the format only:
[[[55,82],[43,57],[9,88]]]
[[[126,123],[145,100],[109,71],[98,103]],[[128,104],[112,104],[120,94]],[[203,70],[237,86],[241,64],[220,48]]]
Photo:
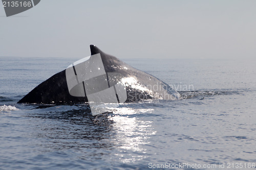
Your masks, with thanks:
[[[152,127],[152,121],[144,121],[138,117],[132,117],[131,115],[145,112],[151,113],[152,111],[154,111],[154,109],[133,109],[123,107],[116,108],[113,112],[116,115],[110,117],[110,119],[114,121],[113,126],[116,130],[116,138],[114,142],[119,150],[115,156],[119,157],[123,163],[141,160],[146,156],[146,149],[143,148],[143,145],[150,143],[150,138],[152,135],[156,134],[156,131]],[[127,152],[138,154],[127,155]]]

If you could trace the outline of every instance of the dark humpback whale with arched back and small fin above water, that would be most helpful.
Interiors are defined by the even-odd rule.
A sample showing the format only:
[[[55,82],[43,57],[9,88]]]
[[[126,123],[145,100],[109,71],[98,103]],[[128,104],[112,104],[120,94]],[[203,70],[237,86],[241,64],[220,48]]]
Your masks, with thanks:
[[[160,79],[102,52],[95,45],[90,48],[91,56],[42,82],[18,103],[124,103],[180,98],[176,90]]]

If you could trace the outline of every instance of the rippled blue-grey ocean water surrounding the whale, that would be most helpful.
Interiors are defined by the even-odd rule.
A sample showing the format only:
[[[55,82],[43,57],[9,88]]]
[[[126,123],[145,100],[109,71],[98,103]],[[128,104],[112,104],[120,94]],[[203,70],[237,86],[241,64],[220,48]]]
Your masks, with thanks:
[[[181,99],[125,103],[96,117],[86,105],[16,104],[76,60],[0,58],[0,169],[256,166],[255,62],[123,60]]]

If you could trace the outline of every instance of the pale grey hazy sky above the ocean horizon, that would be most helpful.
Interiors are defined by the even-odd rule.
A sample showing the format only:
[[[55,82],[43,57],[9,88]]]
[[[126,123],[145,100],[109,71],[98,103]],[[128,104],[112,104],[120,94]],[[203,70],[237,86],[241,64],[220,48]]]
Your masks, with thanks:
[[[255,7],[254,0],[41,0],[6,17],[0,6],[0,56],[83,58],[95,44],[119,58],[252,59]]]

